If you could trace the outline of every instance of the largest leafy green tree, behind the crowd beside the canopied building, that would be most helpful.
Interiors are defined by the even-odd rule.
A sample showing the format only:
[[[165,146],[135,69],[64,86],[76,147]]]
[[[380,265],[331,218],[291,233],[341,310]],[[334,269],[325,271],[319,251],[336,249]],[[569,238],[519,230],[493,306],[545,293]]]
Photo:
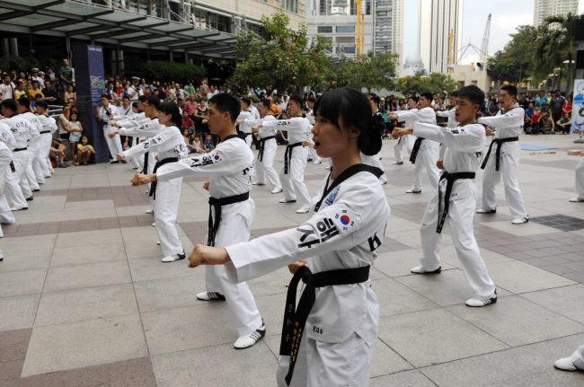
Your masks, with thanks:
[[[271,18],[262,16],[261,35],[247,31],[238,36],[236,51],[243,60],[227,81],[232,90],[245,92],[251,86],[299,92],[304,86],[324,87],[329,67],[326,40],[309,45],[305,24],[293,31],[288,22],[281,11]]]

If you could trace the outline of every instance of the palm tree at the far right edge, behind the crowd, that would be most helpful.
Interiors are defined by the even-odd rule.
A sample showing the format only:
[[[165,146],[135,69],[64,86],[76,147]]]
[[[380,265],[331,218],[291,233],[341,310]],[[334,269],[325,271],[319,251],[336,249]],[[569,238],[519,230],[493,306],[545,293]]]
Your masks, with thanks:
[[[573,82],[572,61],[576,49],[576,30],[584,23],[584,15],[568,13],[567,15],[550,16],[539,27],[537,45],[535,49],[535,75],[545,78],[560,68],[558,89],[562,85],[562,64],[568,60],[568,74],[566,77],[566,93],[571,89]]]

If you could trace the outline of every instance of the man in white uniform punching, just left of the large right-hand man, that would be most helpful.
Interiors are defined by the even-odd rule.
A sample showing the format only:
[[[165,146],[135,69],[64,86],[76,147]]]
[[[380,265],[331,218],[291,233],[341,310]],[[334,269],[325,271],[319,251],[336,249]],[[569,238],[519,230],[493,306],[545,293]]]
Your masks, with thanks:
[[[433,98],[431,92],[422,92],[419,102],[420,110],[395,111],[389,117],[398,121],[411,119],[412,122],[436,125],[436,112],[430,107]],[[428,173],[430,187],[432,189],[438,188],[439,172],[436,162],[438,161],[439,147],[440,145],[436,141],[427,140],[423,137],[416,138],[410,155],[410,161],[414,164],[413,187],[406,190],[407,193],[421,192],[421,177],[424,170]]]

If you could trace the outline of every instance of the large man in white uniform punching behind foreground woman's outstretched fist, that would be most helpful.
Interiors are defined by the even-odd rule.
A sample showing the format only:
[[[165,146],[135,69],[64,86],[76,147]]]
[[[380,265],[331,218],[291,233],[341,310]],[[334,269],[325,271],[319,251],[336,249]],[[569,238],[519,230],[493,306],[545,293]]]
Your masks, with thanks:
[[[153,174],[137,173],[133,185],[181,179],[182,176],[206,176],[204,188],[210,193],[208,240],[209,246],[248,241],[255,205],[249,196],[252,187],[250,171],[253,168],[252,150],[237,135],[235,119],[239,101],[225,92],[211,97],[208,102],[208,125],[221,142],[208,154],[162,166]],[[234,347],[251,347],[266,332],[265,324],[245,283],[237,284],[227,276],[223,267],[209,267],[207,291],[199,293],[202,301],[226,301],[234,317],[239,338]]]

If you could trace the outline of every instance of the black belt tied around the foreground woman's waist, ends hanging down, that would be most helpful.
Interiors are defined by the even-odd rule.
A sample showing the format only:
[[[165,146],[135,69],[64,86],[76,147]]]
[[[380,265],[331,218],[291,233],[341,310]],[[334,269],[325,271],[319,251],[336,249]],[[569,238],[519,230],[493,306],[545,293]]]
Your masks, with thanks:
[[[296,307],[296,289],[301,279],[306,286]],[[368,266],[327,270],[314,274],[306,266],[298,268],[288,285],[282,337],[279,344],[280,356],[290,356],[288,374],[286,375],[287,385],[290,385],[292,380],[306,319],[308,319],[314,305],[316,287],[360,284],[367,279],[369,279]]]

